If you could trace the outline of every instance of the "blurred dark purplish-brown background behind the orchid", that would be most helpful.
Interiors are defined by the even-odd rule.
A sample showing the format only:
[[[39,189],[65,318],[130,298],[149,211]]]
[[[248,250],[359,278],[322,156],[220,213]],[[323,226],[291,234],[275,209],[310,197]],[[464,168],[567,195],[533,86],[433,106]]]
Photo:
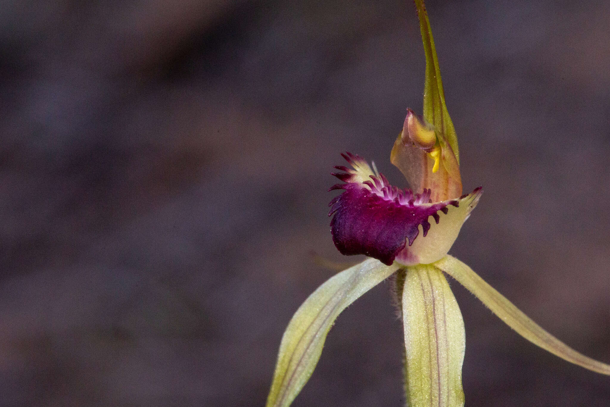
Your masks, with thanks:
[[[0,406],[260,406],[285,325],[332,275],[326,189],[422,109],[408,0],[0,7]],[[428,4],[465,190],[451,253],[610,362],[610,3]],[[451,282],[468,406],[608,406]],[[401,406],[384,283],[294,406]]]

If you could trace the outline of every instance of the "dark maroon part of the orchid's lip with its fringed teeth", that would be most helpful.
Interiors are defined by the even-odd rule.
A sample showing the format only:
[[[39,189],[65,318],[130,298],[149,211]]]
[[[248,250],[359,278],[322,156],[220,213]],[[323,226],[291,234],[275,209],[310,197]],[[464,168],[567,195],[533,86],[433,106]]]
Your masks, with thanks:
[[[419,234],[419,225],[422,225],[423,236],[428,234],[429,216],[439,223],[437,211],[447,214],[449,204],[459,205],[458,200],[432,203],[431,190],[425,189],[423,193],[414,195],[410,189],[390,185],[382,174],[370,175],[367,181],[354,182],[357,168],[362,162],[367,164],[355,154],[342,156],[356,168],[335,167],[345,173],[333,175],[346,183],[329,189],[345,190],[329,203],[331,211],[328,214],[334,215],[331,220],[332,241],[342,254],[365,254],[390,265],[407,242],[409,246],[413,244]]]

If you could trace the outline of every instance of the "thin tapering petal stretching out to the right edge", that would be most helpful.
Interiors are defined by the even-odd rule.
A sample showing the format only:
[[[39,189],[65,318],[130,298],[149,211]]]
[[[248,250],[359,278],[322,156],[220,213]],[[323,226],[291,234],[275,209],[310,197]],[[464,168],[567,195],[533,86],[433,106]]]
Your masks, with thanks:
[[[472,268],[468,267],[456,258],[449,255],[434,263],[443,272],[458,280],[472,294],[476,295],[494,314],[508,326],[517,331],[525,339],[538,345],[544,350],[550,351],[559,358],[582,366],[594,372],[610,375],[610,365],[598,362],[595,359],[578,353],[568,345],[561,342],[547,331],[543,330],[529,317],[515,307],[511,301],[503,297],[499,292],[479,277]]]

